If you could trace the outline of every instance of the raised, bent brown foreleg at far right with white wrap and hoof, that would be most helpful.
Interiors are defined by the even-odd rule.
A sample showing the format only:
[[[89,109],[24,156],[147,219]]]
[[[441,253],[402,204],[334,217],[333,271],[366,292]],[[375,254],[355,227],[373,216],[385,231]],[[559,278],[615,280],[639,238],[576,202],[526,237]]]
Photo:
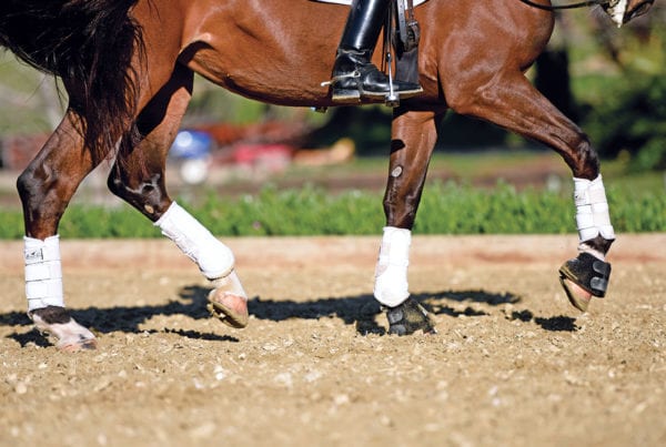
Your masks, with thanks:
[[[446,91],[458,113],[491,121],[559,153],[574,176],[574,202],[579,235],[578,256],[559,270],[566,295],[585,312],[592,296],[606,292],[610,264],[606,253],[615,240],[599,161],[587,136],[548,102],[517,70],[494,70],[485,85],[460,79]],[[471,94],[471,92],[474,92]]]

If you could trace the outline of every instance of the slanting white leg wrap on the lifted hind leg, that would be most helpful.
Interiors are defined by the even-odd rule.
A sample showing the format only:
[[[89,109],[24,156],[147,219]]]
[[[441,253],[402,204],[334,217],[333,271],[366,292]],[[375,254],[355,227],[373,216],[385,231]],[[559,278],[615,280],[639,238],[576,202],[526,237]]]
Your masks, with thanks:
[[[206,278],[224,277],[233,270],[231,250],[178,203],[172,202],[154,225],[196,263]]]

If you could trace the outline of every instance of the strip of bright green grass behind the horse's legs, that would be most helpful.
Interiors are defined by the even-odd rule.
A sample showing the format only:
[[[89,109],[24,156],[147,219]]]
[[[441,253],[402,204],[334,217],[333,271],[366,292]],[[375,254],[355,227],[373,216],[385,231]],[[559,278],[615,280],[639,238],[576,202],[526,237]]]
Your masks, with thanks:
[[[607,189],[618,233],[666,231],[666,194]],[[329,194],[316,187],[220,197],[210,193],[199,206],[182,205],[218,236],[372,235],[384,225],[382,194],[347,191]],[[19,211],[0,212],[1,238],[23,235]],[[568,192],[516,191],[500,182],[494,189],[433,183],[422,197],[416,234],[562,234],[574,233]],[[160,232],[128,205],[74,204],[65,212],[63,237],[159,237]]]

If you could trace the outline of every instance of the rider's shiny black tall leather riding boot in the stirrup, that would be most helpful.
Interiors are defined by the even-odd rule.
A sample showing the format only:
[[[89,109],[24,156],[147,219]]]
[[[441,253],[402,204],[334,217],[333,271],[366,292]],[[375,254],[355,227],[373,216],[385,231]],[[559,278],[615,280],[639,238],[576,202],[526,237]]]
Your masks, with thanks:
[[[352,2],[333,65],[333,101],[384,99],[390,93],[389,77],[371,62],[390,4],[391,0]],[[393,91],[405,99],[423,89],[416,83],[393,80]]]

